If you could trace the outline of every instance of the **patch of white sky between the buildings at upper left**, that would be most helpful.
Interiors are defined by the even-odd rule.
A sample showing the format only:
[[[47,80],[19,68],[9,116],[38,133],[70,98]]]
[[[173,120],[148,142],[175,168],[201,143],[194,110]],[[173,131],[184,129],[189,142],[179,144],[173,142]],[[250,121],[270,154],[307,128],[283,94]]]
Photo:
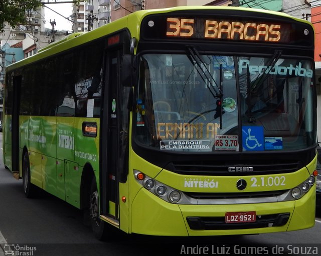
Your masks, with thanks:
[[[52,28],[50,24],[50,19],[53,21],[56,20],[56,30],[68,30],[71,31],[71,22],[62,17],[69,17],[72,13],[72,6],[71,3],[52,3],[52,4],[45,4],[49,8],[45,6],[45,27]],[[56,12],[52,11],[51,9],[57,11],[61,15],[57,14]]]

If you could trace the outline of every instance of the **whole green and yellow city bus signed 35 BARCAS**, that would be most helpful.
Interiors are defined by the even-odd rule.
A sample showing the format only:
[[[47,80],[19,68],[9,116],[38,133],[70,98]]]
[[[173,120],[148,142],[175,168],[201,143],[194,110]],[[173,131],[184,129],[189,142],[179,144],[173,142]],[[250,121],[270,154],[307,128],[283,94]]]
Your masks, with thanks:
[[[6,70],[4,163],[98,238],[313,226],[312,25],[253,8],[141,10]]]

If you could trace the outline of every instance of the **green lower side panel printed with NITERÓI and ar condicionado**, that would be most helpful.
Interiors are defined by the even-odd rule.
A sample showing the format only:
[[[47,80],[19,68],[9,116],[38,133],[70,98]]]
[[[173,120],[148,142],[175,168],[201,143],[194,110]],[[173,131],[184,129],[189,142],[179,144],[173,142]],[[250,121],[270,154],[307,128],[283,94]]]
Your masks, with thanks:
[[[23,148],[28,148],[31,182],[76,207],[84,165],[99,169],[99,132],[84,136],[84,121],[88,118],[20,116],[20,176]],[[90,121],[99,127],[99,118]]]

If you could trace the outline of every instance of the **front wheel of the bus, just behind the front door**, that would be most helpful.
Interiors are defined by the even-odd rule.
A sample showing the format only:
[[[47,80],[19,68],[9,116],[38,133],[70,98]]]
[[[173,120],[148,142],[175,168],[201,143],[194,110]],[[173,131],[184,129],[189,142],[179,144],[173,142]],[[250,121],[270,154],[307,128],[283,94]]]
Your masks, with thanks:
[[[100,219],[99,213],[99,197],[97,191],[97,184],[95,176],[93,176],[90,186],[89,197],[89,215],[91,228],[99,240],[106,240],[107,238],[107,223]]]

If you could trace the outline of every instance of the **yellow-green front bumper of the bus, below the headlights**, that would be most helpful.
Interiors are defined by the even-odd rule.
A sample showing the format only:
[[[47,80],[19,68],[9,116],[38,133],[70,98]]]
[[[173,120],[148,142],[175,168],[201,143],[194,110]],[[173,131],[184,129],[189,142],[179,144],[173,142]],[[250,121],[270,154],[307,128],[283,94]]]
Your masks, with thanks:
[[[226,212],[245,211],[256,211],[257,223],[225,223]],[[314,225],[315,186],[298,200],[220,205],[172,204],[140,189],[132,202],[131,213],[131,232],[149,235],[235,235],[298,230]]]

